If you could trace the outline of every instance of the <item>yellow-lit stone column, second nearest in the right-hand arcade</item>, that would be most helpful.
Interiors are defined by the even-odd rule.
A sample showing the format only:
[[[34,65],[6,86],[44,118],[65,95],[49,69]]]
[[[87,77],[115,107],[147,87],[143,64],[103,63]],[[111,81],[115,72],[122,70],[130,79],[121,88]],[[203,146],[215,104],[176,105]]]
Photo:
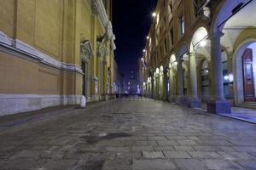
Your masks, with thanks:
[[[201,99],[198,98],[197,92],[197,75],[196,75],[196,59],[195,52],[189,53],[189,81],[190,81],[190,96],[188,106],[191,108],[200,108]]]

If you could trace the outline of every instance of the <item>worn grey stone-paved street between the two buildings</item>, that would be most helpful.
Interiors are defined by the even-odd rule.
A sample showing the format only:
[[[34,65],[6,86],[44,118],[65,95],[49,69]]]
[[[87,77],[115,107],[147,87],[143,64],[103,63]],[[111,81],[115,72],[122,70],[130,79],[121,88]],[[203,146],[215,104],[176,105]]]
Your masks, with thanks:
[[[256,125],[154,100],[112,100],[0,133],[3,170],[256,169]]]

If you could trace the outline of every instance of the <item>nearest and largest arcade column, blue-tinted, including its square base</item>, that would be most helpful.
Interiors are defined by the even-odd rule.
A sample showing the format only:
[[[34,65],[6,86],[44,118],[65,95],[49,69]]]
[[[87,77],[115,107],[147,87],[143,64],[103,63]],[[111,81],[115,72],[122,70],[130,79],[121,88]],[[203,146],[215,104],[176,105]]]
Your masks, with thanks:
[[[230,113],[230,103],[224,99],[223,66],[221,60],[220,37],[223,33],[214,32],[211,36],[211,79],[212,98],[207,103],[207,111],[211,113]]]

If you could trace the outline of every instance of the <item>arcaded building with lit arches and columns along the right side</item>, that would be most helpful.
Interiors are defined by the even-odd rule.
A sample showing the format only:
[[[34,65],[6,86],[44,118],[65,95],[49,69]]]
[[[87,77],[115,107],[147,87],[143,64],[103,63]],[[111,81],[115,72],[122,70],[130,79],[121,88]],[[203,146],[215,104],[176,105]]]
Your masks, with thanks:
[[[160,0],[144,49],[143,94],[228,113],[256,106],[256,1]]]

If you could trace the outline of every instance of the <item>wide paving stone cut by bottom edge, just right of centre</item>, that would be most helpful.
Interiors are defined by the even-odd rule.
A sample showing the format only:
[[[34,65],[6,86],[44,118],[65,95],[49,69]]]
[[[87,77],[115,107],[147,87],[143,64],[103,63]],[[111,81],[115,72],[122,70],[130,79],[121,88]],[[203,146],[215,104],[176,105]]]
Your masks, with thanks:
[[[177,169],[171,160],[154,159],[154,160],[133,160],[133,170],[174,170]]]

